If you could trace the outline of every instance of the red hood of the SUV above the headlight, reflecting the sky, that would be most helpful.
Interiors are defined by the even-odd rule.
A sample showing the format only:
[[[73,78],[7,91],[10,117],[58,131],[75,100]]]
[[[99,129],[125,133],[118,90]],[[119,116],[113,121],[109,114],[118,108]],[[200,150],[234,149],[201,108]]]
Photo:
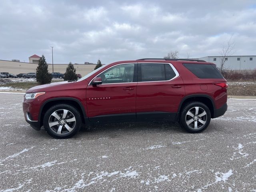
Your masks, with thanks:
[[[63,90],[65,87],[70,89],[70,84],[76,83],[75,81],[64,81],[64,82],[56,82],[56,83],[49,83],[44,85],[38,85],[30,88],[26,91],[26,93],[35,93],[35,92],[47,92],[52,90]]]

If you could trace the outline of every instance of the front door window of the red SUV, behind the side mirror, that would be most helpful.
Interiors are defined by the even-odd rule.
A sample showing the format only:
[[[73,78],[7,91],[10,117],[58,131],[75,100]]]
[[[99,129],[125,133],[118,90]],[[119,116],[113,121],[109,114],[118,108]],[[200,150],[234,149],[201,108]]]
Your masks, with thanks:
[[[98,77],[101,77],[102,84],[133,82],[134,64],[121,64],[114,66],[98,75]]]

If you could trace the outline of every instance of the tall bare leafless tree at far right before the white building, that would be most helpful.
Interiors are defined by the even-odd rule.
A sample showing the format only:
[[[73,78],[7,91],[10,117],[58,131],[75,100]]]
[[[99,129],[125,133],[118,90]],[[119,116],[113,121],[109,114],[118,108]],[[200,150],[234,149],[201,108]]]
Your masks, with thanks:
[[[233,36],[230,37],[230,39],[228,40],[228,42],[224,43],[222,45],[222,50],[220,51],[220,72],[224,72],[225,68],[224,68],[224,64],[226,62],[226,58],[228,55],[232,55],[234,54],[234,47],[235,47],[235,43],[233,41],[231,41]]]

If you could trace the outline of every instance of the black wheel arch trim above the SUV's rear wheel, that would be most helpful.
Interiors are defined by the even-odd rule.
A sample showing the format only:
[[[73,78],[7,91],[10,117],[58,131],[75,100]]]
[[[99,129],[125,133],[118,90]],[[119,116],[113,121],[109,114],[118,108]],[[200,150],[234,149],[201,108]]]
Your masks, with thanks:
[[[192,101],[199,101],[206,104],[206,106],[208,106],[211,112],[212,118],[214,117],[214,109],[215,109],[214,101],[209,95],[205,95],[205,94],[194,94],[194,95],[185,96],[180,102],[180,105],[178,108],[179,114],[182,108],[186,105],[186,103],[192,102]]]

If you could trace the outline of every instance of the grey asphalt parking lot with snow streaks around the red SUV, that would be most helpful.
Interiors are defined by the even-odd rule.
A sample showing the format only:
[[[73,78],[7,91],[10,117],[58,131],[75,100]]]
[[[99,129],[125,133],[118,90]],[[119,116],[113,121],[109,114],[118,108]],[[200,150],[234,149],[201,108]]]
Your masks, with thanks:
[[[0,191],[255,191],[256,101],[228,100],[201,134],[177,123],[83,128],[57,140],[0,94]]]

